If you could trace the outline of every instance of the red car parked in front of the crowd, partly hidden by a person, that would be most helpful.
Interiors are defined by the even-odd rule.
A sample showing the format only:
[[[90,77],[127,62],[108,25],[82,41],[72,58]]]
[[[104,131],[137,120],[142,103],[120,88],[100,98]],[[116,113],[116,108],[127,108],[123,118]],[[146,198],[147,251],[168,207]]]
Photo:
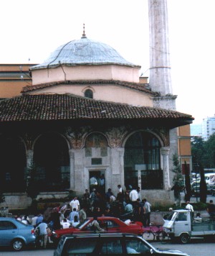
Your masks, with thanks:
[[[55,239],[59,239],[64,234],[73,234],[73,233],[92,233],[91,222],[93,218],[87,218],[84,222],[77,225],[77,227],[71,227],[69,229],[57,229],[54,230]],[[107,233],[132,233],[132,234],[143,234],[143,224],[139,221],[131,222],[130,224],[125,224],[125,222],[121,221],[115,217],[98,217],[98,223],[102,229],[105,229]]]

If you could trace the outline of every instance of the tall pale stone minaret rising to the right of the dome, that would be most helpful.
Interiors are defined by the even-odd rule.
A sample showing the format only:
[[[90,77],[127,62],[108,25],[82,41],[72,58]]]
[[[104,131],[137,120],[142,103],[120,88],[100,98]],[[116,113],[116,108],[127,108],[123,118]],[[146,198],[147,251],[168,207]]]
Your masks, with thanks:
[[[176,96],[173,96],[171,66],[168,45],[167,0],[148,0],[150,76],[149,85],[157,91],[154,106],[163,109],[176,109]]]

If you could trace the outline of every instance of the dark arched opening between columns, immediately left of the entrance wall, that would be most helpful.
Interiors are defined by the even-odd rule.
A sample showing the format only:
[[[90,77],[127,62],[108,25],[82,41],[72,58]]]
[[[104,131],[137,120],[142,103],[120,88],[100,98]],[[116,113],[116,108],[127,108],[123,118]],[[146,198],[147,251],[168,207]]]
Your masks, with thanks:
[[[66,141],[59,134],[44,134],[34,145],[34,164],[41,191],[70,188],[70,157]]]

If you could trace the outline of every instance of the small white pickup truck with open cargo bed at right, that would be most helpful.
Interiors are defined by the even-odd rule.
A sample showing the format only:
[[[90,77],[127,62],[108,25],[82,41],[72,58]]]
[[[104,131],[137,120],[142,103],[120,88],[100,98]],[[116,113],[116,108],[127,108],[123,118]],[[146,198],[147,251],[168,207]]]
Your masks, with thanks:
[[[180,239],[182,244],[190,242],[191,237],[214,237],[215,219],[194,218],[188,210],[174,210],[164,219],[163,231],[171,239]]]

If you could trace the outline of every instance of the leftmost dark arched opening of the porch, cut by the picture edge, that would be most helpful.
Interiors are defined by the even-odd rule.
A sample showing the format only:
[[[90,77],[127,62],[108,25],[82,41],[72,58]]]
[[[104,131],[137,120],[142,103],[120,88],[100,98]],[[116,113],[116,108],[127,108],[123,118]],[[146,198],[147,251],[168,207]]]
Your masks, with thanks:
[[[26,152],[19,137],[0,137],[0,187],[3,192],[24,192],[26,189]]]

